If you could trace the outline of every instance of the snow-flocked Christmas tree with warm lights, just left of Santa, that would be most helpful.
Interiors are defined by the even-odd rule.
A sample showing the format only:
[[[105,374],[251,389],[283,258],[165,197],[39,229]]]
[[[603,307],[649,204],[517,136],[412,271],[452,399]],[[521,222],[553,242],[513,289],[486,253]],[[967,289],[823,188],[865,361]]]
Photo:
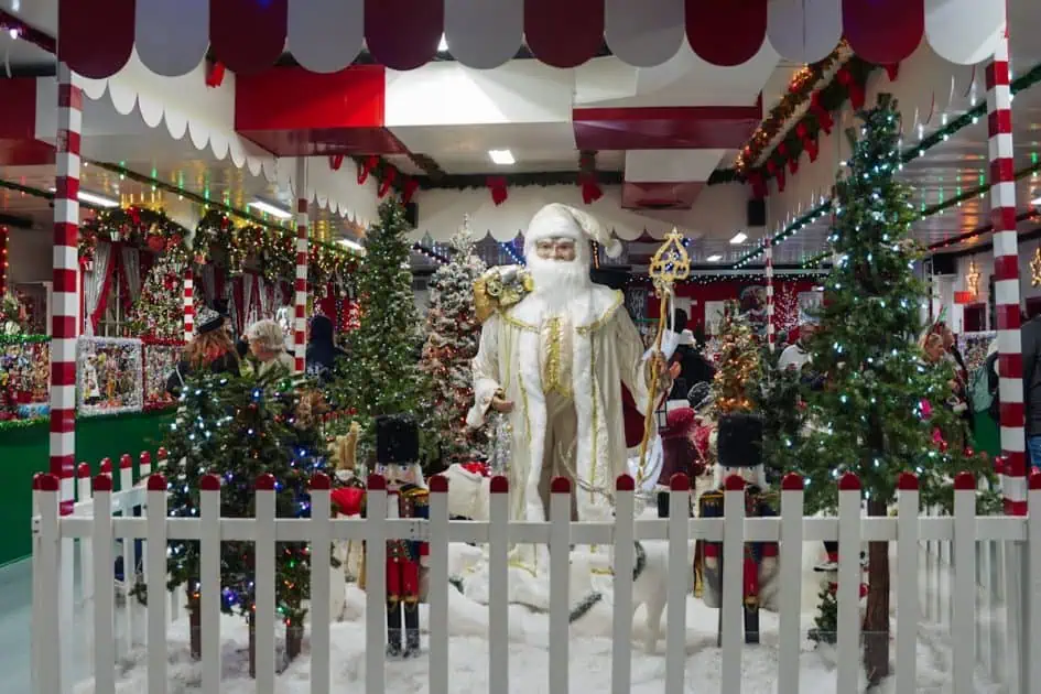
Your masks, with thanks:
[[[429,378],[425,408],[441,432],[443,462],[466,463],[487,446],[484,430],[466,426],[466,411],[474,400],[470,361],[477,356],[480,323],[474,307],[474,282],[485,271],[474,252],[469,227],[452,239],[451,262],[431,278],[431,302],[426,314],[426,345],[420,367]]]

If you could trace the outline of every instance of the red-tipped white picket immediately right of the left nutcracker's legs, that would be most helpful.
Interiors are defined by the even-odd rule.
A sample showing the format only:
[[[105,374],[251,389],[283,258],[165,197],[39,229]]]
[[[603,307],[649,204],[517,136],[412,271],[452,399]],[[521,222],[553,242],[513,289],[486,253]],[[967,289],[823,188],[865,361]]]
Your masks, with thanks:
[[[426,603],[430,606],[430,694],[448,694],[448,478],[430,478],[430,577]],[[445,633],[434,635],[433,626],[444,625]],[[489,671],[489,679],[498,676]]]

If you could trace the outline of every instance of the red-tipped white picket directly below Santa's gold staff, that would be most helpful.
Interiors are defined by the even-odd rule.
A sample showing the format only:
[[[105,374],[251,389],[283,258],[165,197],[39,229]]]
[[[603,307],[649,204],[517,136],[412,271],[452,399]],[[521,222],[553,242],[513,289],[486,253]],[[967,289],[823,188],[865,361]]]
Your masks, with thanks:
[[[615,612],[611,632],[611,694],[632,688],[632,573],[636,568],[636,481],[615,481]]]

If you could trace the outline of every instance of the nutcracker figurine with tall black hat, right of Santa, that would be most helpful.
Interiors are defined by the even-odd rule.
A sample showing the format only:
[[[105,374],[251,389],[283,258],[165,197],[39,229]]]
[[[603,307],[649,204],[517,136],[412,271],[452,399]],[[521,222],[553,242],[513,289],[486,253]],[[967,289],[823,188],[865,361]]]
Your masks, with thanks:
[[[753,414],[725,414],[719,418],[717,440],[718,464],[713,491],[702,495],[698,516],[722,518],[724,484],[737,475],[745,480],[746,518],[770,518],[777,511],[769,503],[762,465],[762,420]],[[704,600],[708,607],[723,604],[723,543],[703,544]],[[745,642],[759,642],[759,607],[762,588],[777,575],[778,546],[774,542],[746,542],[741,571],[741,604],[745,611]],[[720,620],[723,611],[719,612]],[[720,622],[722,637],[722,622]]]

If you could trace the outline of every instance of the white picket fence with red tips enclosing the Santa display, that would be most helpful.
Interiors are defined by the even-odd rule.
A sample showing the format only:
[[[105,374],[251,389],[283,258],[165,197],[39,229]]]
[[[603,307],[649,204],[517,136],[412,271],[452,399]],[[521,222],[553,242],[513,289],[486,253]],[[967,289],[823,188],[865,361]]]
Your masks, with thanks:
[[[124,566],[133,567],[134,541],[144,541],[144,575],[150,596],[166,590],[166,543],[169,540],[198,540],[202,563],[202,691],[220,691],[220,575],[219,554],[223,541],[257,543],[256,552],[256,635],[257,692],[275,691],[275,542],[311,542],[312,575],[310,606],[311,691],[330,691],[330,543],[335,540],[366,541],[368,567],[366,593],[366,694],[386,692],[386,544],[389,539],[430,542],[430,692],[447,694],[448,686],[448,544],[485,543],[489,547],[489,627],[488,690],[492,694],[509,691],[510,638],[507,587],[508,551],[514,543],[549,545],[550,554],[550,631],[549,691],[568,691],[570,639],[570,547],[578,545],[611,546],[614,552],[614,625],[611,658],[611,692],[630,691],[632,655],[632,570],[636,563],[633,541],[666,540],[670,575],[665,632],[665,683],[669,694],[684,691],[686,653],[686,610],[690,592],[688,543],[692,540],[723,542],[723,585],[741,585],[742,551],[746,541],[780,542],[780,587],[778,604],[779,653],[778,692],[800,691],[801,594],[804,543],[838,541],[844,547],[860,547],[867,541],[896,544],[893,567],[896,597],[894,681],[896,691],[917,691],[915,657],[918,623],[924,616],[947,620],[953,635],[951,681],[956,694],[974,691],[977,663],[1001,673],[1007,691],[1026,694],[1028,683],[1041,682],[1041,639],[1029,640],[1019,630],[1041,633],[1041,599],[1022,600],[1019,595],[1041,596],[1041,513],[1033,517],[980,517],[975,514],[976,486],[970,476],[955,480],[954,514],[920,516],[919,492],[913,476],[901,479],[898,514],[893,518],[865,518],[861,494],[856,477],[839,481],[837,518],[803,516],[802,480],[785,478],[782,485],[781,513],[778,518],[745,518],[744,494],[737,479],[725,491],[724,518],[688,519],[683,513],[668,519],[633,520],[636,498],[632,479],[622,476],[617,482],[616,519],[611,522],[570,520],[570,486],[554,480],[551,495],[551,520],[517,522],[509,519],[506,479],[492,485],[490,518],[487,522],[449,521],[447,480],[431,479],[430,520],[388,519],[388,495],[382,478],[369,480],[368,518],[330,518],[329,480],[318,475],[312,480],[312,517],[310,519],[275,518],[274,480],[258,479],[256,517],[220,518],[220,490],[216,477],[200,481],[202,508],[198,518],[167,518],[166,481],[152,476],[144,487],[132,487],[129,458],[121,466],[123,491],[113,494],[111,476],[102,473],[91,480],[82,476],[77,484],[78,501],[68,516],[61,516],[58,479],[45,475],[34,480],[37,516],[33,519],[33,684],[35,694],[66,694],[73,691],[76,675],[69,655],[84,642],[93,648],[93,675],[96,692],[116,692],[117,654],[126,654],[134,646],[135,629],[122,629],[117,642],[113,622],[120,614],[133,620],[134,610],[116,609],[113,595],[113,547],[122,541]],[[148,466],[142,474],[148,475]],[[1031,484],[1030,508],[1041,508],[1041,478]],[[675,480],[670,506],[686,509],[690,491],[685,480]],[[143,513],[134,517],[134,507]],[[977,543],[984,547],[977,550]],[[74,578],[76,546],[82,585]],[[952,551],[940,547],[950,546]],[[1031,545],[1034,551],[1027,552]],[[1026,553],[1022,575],[1009,581],[1009,588],[995,583],[996,564],[1001,561],[995,546],[1012,556]],[[811,551],[816,551],[812,544]],[[951,556],[957,562],[951,562]],[[932,566],[932,568],[930,568]],[[939,600],[922,600],[920,575],[925,570],[925,586]],[[983,570],[983,571],[980,571]],[[980,576],[985,579],[980,581]],[[839,557],[837,668],[838,692],[856,692],[860,671],[859,586],[861,568],[858,552]],[[1016,581],[1022,579],[1019,586]],[[1015,593],[1013,596],[1010,595]],[[1008,595],[1007,595],[1008,594]],[[84,632],[74,618],[74,596],[86,606]],[[934,604],[935,603],[935,604]],[[144,647],[148,664],[148,691],[167,691],[167,627],[177,618],[183,596],[170,600],[149,600],[145,608]],[[999,606],[1021,616],[1022,625],[1015,633],[999,635],[994,623],[978,621],[979,606],[995,610]],[[742,639],[741,595],[725,590],[723,596],[722,683],[726,694],[741,691]],[[986,616],[984,616],[986,617]],[[1002,627],[1004,628],[1004,627]],[[525,673],[529,676],[531,673]],[[83,676],[80,674],[79,676]],[[87,673],[89,676],[89,673]]]

